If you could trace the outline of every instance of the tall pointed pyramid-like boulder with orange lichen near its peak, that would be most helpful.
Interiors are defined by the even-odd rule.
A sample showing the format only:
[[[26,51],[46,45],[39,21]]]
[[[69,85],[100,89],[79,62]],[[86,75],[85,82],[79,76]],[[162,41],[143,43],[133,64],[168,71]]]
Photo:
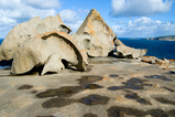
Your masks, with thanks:
[[[117,36],[103,21],[98,11],[92,9],[75,34],[72,34],[80,50],[87,50],[90,56],[108,56],[114,50]]]

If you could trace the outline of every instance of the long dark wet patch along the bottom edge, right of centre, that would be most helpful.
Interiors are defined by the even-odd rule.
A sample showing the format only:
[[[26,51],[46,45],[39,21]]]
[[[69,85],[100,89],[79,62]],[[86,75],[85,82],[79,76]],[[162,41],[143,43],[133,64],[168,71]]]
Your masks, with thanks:
[[[108,117],[127,117],[127,115],[143,117],[151,115],[152,117],[168,117],[168,113],[161,109],[139,110],[130,107],[112,106],[107,109]]]

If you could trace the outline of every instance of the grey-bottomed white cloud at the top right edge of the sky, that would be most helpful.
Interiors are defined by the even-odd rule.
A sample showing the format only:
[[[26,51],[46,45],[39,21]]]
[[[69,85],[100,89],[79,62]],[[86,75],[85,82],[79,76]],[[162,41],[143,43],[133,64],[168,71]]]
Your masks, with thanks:
[[[172,0],[112,0],[112,17],[141,17],[165,13],[171,10]]]

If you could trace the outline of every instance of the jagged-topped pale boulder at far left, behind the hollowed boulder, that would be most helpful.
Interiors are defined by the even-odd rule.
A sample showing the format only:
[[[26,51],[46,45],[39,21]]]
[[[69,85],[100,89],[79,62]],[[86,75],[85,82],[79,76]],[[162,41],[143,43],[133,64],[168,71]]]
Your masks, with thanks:
[[[9,32],[1,44],[0,59],[13,59],[21,43],[48,31],[65,31],[69,33],[70,29],[63,23],[59,14],[47,17],[44,20],[35,17],[28,22],[18,24]]]

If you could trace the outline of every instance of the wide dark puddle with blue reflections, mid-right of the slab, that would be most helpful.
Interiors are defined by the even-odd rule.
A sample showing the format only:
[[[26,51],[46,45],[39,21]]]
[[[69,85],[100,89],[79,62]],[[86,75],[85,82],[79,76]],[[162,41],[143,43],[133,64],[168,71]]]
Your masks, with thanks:
[[[118,89],[144,89],[144,86],[152,86],[152,84],[145,84],[144,79],[140,79],[140,78],[131,78],[128,79],[127,82],[123,82],[122,84],[124,86],[111,86],[108,87],[108,89],[110,91],[118,91]]]

